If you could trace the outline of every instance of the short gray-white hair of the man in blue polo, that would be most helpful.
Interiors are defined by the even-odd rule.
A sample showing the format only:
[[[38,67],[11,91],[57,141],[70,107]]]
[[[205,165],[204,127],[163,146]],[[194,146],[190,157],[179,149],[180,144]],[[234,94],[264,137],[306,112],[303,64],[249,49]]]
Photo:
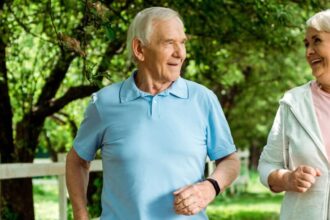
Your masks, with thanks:
[[[178,18],[182,23],[178,12],[164,7],[150,7],[140,11],[132,21],[127,32],[126,47],[128,51],[128,58],[133,63],[136,63],[133,53],[132,42],[134,38],[139,39],[143,45],[147,45],[153,31],[153,22],[156,20],[168,20]]]

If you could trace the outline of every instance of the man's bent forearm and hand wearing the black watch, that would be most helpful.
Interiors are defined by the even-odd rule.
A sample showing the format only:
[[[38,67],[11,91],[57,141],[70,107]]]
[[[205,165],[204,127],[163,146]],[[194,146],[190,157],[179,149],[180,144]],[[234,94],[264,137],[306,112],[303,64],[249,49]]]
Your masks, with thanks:
[[[216,161],[216,168],[209,178],[216,180],[223,192],[239,175],[240,160],[237,153]],[[194,215],[213,201],[215,189],[209,181],[185,186],[174,192],[174,209],[177,214]]]

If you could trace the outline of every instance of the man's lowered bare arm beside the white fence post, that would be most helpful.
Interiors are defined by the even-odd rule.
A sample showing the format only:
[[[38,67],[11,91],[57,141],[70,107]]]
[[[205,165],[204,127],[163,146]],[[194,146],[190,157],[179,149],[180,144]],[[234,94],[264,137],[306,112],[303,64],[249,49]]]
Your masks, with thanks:
[[[74,219],[88,219],[87,186],[90,163],[72,148],[66,158],[66,184],[72,203]]]

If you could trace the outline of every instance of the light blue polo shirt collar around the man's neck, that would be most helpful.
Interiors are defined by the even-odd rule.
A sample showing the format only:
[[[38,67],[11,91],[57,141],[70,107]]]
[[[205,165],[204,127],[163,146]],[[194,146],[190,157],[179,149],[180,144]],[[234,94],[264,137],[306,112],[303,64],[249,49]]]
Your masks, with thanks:
[[[134,76],[136,72],[134,72],[128,79],[126,79],[120,88],[119,96],[120,96],[120,102],[129,102],[133,101],[135,99],[138,99],[139,97],[145,97],[150,96],[149,93],[141,91],[135,84]],[[171,94],[175,97],[187,99],[188,98],[188,86],[184,79],[179,77],[177,80],[175,80],[172,85],[164,90],[163,92],[159,93],[160,96],[167,96],[168,94]]]

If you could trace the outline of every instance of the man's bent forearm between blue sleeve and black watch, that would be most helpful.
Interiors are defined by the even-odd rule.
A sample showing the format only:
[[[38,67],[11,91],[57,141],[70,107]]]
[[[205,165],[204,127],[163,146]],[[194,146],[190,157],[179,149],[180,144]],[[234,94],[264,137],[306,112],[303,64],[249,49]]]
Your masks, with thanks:
[[[216,163],[217,166],[210,178],[218,182],[221,192],[223,192],[238,177],[240,160],[237,153],[233,153]]]

